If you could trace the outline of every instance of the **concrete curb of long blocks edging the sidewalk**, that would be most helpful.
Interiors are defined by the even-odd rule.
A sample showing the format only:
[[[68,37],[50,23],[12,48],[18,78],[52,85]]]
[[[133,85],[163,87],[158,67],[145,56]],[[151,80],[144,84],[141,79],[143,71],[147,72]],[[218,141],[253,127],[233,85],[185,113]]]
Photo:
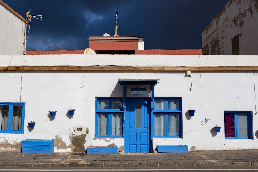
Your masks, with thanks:
[[[0,168],[7,167],[105,167],[105,168],[177,168],[177,167],[258,167],[258,162],[107,162],[107,163],[0,163]]]

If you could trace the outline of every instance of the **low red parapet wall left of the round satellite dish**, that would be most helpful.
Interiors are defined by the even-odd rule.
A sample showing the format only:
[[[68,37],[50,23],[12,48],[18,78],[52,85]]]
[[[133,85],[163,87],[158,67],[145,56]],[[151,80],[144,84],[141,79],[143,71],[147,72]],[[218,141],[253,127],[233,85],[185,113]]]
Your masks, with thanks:
[[[84,54],[84,50],[26,51],[27,55]]]

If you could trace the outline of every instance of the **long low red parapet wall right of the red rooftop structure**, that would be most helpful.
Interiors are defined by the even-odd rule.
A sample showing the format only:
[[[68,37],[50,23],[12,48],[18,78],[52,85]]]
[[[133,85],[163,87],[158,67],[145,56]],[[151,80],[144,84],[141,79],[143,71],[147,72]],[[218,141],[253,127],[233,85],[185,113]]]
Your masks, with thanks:
[[[202,49],[196,50],[135,50],[135,54],[142,55],[202,55]]]

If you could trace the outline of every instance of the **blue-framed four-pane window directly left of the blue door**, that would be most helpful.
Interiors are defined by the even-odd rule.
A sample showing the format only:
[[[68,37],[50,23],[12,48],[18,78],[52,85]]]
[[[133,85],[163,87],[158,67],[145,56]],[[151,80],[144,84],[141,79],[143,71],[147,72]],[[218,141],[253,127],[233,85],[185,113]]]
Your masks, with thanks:
[[[96,97],[95,137],[123,137],[122,97]]]

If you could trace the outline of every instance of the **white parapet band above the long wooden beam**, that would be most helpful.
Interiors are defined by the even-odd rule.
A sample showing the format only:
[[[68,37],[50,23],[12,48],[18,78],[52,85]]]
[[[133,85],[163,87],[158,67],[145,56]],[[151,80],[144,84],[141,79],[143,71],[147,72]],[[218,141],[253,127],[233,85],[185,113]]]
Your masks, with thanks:
[[[26,66],[258,66],[257,57],[232,55],[0,55],[0,66],[23,66],[24,64]]]

